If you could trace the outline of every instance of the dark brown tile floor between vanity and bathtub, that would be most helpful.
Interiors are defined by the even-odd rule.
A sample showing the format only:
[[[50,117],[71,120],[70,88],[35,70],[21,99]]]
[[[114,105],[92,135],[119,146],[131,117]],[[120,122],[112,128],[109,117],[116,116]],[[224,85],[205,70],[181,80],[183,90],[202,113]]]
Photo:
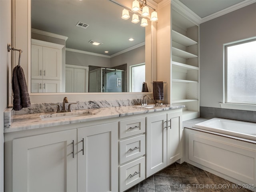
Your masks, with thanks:
[[[126,192],[250,192],[186,162],[174,163]]]

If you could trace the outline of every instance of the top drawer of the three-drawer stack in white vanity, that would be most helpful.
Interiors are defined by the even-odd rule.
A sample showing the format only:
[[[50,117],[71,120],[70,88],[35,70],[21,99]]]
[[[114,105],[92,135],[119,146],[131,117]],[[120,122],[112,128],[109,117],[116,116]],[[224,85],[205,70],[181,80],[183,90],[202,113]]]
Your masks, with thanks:
[[[145,118],[119,122],[119,138],[126,138],[145,132]]]

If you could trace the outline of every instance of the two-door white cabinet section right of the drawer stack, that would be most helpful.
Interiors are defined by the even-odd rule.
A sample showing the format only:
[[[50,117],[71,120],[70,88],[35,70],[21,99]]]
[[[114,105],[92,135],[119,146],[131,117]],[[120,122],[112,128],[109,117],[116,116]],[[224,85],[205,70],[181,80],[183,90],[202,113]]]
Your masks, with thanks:
[[[146,117],[146,176],[182,158],[182,112]]]

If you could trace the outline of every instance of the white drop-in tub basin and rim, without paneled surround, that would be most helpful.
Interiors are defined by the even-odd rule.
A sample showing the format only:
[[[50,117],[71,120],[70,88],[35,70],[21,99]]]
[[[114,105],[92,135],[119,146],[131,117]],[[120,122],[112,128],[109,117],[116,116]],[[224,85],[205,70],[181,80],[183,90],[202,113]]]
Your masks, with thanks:
[[[256,123],[212,118],[195,124],[194,128],[256,141]]]

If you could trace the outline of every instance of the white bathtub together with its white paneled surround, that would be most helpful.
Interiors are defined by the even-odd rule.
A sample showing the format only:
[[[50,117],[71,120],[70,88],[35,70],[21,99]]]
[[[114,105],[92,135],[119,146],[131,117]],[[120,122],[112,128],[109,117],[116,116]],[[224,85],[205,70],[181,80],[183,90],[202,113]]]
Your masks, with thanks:
[[[184,138],[186,162],[256,192],[256,123],[212,118]]]

